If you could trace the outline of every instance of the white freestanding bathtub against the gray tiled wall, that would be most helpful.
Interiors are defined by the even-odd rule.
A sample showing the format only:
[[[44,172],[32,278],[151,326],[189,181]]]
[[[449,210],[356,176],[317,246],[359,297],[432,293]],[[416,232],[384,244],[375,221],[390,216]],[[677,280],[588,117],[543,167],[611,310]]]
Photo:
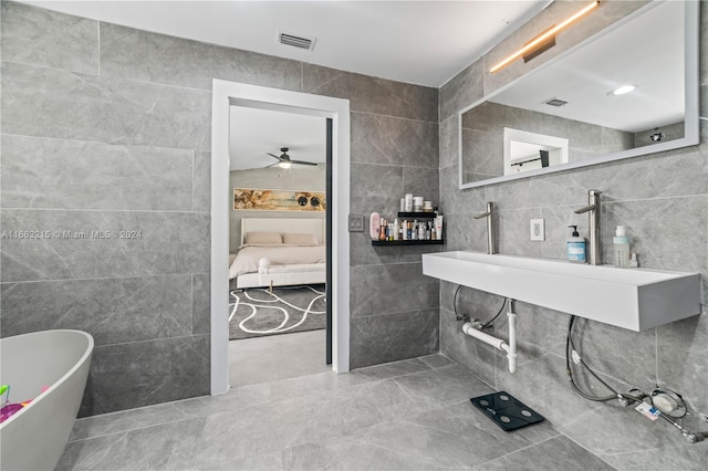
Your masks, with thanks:
[[[10,402],[33,398],[0,426],[0,469],[54,469],[79,412],[92,353],[93,337],[80,331],[0,339],[0,384],[10,385]]]

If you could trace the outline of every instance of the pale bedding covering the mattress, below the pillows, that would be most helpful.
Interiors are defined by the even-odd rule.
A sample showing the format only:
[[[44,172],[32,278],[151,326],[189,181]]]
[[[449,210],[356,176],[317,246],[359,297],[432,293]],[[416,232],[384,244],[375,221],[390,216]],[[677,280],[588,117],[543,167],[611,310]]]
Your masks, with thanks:
[[[264,263],[260,260],[266,259]],[[275,270],[288,266],[296,271],[296,265],[326,263],[325,245],[241,245],[229,268],[229,279],[246,273],[258,273],[264,268]]]

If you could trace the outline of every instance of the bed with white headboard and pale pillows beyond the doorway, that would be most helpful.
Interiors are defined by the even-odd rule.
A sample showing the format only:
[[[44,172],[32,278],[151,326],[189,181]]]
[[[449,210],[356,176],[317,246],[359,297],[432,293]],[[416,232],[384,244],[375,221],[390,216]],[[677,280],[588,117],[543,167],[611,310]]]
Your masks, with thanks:
[[[241,219],[240,247],[229,257],[236,289],[326,282],[324,219]]]

